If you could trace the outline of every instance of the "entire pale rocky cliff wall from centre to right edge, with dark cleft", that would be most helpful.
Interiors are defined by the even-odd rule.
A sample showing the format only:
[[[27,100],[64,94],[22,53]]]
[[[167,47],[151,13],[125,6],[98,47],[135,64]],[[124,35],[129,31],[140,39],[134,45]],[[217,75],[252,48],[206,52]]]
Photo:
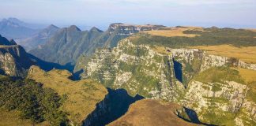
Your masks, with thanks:
[[[130,95],[177,102],[194,109],[206,124],[256,123],[255,102],[247,98],[251,87],[232,69],[254,69],[254,65],[202,50],[160,50],[132,40],[122,39],[113,50],[96,50],[82,77],[124,88]]]

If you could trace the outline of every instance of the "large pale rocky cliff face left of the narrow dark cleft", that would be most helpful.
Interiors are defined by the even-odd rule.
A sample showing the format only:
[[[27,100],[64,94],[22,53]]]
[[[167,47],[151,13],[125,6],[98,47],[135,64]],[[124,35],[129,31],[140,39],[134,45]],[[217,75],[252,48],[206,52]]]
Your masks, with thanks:
[[[97,50],[91,61],[88,61],[82,77],[93,78],[107,87],[125,88],[132,95],[141,93],[140,95],[152,98],[173,98],[173,90],[170,89],[172,70],[170,68],[165,71],[168,65],[172,64],[171,56],[164,57],[149,50],[149,46],[135,46],[126,43],[127,41],[129,40],[123,40],[113,51]],[[137,48],[141,49],[140,52],[136,52]],[[126,53],[123,53],[125,50]],[[165,63],[162,60],[170,62]],[[137,75],[141,75],[141,78]],[[148,82],[152,84],[150,87],[138,86],[138,83],[146,84],[147,80],[151,81]],[[178,85],[177,88],[183,88],[181,83]]]

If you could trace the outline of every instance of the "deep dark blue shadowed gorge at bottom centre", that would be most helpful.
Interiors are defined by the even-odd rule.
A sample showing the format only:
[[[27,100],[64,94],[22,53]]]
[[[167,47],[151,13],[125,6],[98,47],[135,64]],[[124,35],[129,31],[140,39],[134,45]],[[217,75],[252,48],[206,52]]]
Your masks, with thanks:
[[[142,96],[132,97],[124,89],[112,90],[107,88],[108,94],[103,101],[96,105],[96,109],[83,121],[83,126],[104,126],[125,114],[130,104],[143,99]],[[110,116],[111,115],[111,116]]]

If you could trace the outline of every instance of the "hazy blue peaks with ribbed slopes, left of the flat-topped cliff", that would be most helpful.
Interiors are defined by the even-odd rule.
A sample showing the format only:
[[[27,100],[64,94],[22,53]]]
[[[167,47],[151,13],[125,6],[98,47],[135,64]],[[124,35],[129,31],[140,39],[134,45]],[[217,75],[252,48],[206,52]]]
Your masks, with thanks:
[[[92,50],[91,46],[95,45],[96,38],[102,34],[103,31],[97,28],[92,28],[90,31],[81,31],[75,25],[72,25],[69,28],[59,29],[47,43],[30,50],[29,53],[44,61],[60,65],[74,64],[80,54]]]

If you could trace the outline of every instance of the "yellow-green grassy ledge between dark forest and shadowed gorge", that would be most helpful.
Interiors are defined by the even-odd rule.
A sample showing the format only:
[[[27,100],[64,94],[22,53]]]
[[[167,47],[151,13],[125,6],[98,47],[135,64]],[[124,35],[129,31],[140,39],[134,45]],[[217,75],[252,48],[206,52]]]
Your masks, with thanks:
[[[96,108],[96,103],[104,99],[107,89],[93,80],[73,81],[69,76],[71,74],[66,70],[44,72],[37,66],[32,66],[28,73],[28,78],[43,83],[43,87],[50,87],[65,97],[62,110],[69,113],[68,117],[73,123],[80,124]]]

